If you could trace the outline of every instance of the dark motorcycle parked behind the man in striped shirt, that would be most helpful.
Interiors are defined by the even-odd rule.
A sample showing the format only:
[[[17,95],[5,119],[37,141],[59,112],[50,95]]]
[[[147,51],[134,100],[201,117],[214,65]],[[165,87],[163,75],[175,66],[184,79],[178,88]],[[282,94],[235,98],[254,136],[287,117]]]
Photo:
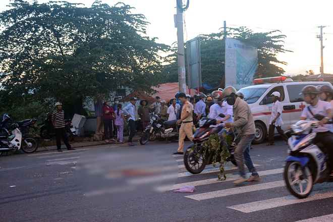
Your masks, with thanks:
[[[72,126],[71,120],[65,120],[65,129],[69,141],[74,140],[75,128]],[[54,127],[52,125],[52,114],[47,113],[44,123],[40,126],[39,135],[43,139],[50,139],[55,136]]]

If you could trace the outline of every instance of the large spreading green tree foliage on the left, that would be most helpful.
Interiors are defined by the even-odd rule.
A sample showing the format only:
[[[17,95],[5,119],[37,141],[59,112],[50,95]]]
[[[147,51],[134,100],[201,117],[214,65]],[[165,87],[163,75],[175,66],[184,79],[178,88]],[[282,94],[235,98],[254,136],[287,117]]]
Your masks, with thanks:
[[[147,22],[130,6],[96,1],[32,4],[13,0],[0,14],[2,96],[67,104],[83,114],[83,100],[123,87],[150,92],[160,72],[158,51],[168,49],[144,37]]]

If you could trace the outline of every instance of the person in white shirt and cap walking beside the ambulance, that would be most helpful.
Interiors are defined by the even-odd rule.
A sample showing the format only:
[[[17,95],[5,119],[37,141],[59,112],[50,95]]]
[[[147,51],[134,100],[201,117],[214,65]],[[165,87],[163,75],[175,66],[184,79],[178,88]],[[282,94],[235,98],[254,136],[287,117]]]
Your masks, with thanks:
[[[269,120],[269,128],[268,128],[268,144],[267,146],[275,145],[274,143],[274,130],[276,127],[276,130],[278,133],[282,136],[283,140],[287,143],[288,142],[288,136],[284,133],[284,131],[281,129],[281,126],[283,125],[283,121],[281,118],[282,115],[282,105],[279,101],[280,99],[280,92],[273,92],[271,94],[273,105],[272,105],[272,112]]]

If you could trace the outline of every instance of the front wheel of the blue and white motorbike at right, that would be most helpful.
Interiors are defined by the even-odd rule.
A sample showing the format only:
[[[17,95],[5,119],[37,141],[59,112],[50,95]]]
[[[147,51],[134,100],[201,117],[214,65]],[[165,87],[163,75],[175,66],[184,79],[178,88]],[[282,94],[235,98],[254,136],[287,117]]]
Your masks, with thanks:
[[[297,198],[303,199],[312,191],[313,179],[310,169],[302,169],[298,161],[289,161],[285,167],[285,182],[288,190]]]

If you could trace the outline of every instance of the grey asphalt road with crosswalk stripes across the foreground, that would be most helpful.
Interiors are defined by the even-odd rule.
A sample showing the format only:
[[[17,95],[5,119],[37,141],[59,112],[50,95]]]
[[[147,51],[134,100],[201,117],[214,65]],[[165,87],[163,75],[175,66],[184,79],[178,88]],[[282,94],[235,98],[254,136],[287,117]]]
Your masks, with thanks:
[[[188,144],[189,142],[186,142],[186,145]],[[106,144],[61,153],[52,150],[1,156],[0,220],[333,221],[333,184],[314,185],[311,196],[303,200],[291,196],[282,174],[287,157],[287,145],[279,137],[275,138],[275,144],[253,146],[250,154],[261,180],[237,186],[232,183],[238,178],[237,168],[232,163],[226,165],[226,181],[217,181],[218,168],[213,168],[212,165],[206,166],[201,174],[188,173],[183,165],[183,155],[172,154],[177,150],[177,143],[165,144],[154,141],[144,146],[138,143],[135,147],[128,147],[126,144]],[[141,152],[140,148],[146,149]],[[113,152],[114,150],[119,152]],[[119,156],[122,151],[131,154]],[[126,175],[131,174],[128,169],[141,169],[140,173],[152,172],[136,168],[135,166],[142,165],[142,162],[133,164],[133,161],[129,161],[131,156],[143,159],[143,162],[150,162],[153,158],[160,159],[156,154],[163,152],[166,154],[161,155],[164,155],[171,165],[172,162],[178,164],[179,171],[178,178],[176,172],[174,186],[164,184],[169,186],[168,191],[152,193],[148,187],[154,180],[144,180],[143,186],[132,191],[129,191],[128,187],[123,187],[123,190],[118,187],[118,197],[123,197],[124,200],[114,200],[113,196],[102,193],[98,196],[99,203],[98,198],[96,200],[93,195],[88,195],[96,194],[92,192],[95,188],[102,189],[103,185],[107,185],[104,183],[105,180],[119,178],[119,172]],[[100,159],[97,167],[96,158]],[[148,165],[148,170],[156,172],[158,164],[154,164]],[[119,168],[120,165],[132,168]],[[89,166],[86,169],[95,166],[95,171],[82,173],[86,166]],[[96,174],[97,169],[106,172],[107,177],[96,176],[99,175]],[[173,192],[185,185],[195,186],[196,191]]]

